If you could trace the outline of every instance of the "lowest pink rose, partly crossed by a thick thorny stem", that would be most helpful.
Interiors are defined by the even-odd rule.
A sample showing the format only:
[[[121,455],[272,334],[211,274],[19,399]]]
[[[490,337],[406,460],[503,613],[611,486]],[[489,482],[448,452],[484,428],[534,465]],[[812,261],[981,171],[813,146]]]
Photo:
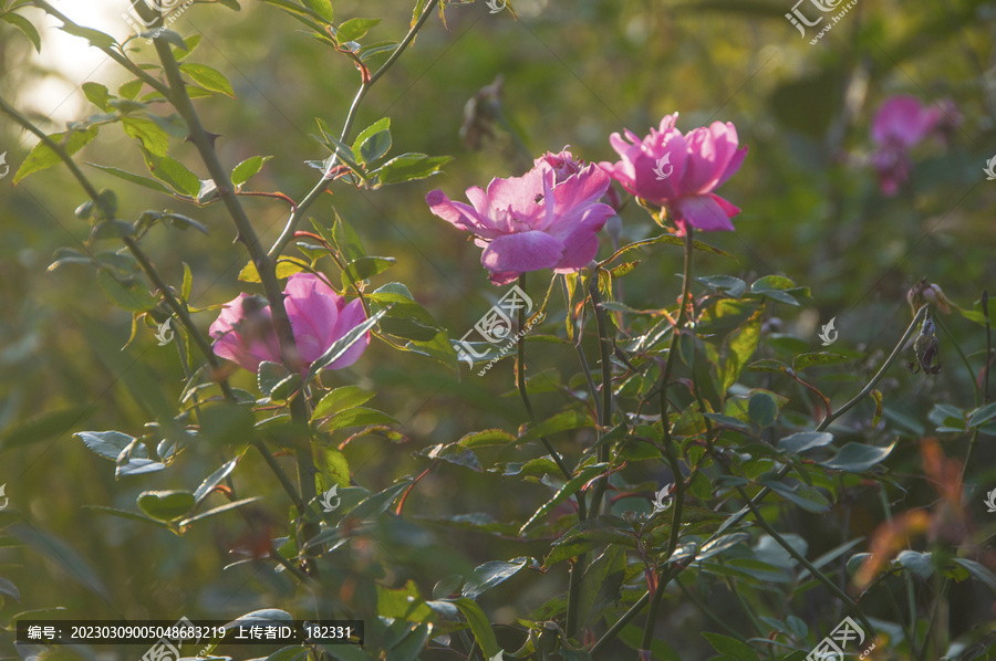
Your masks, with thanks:
[[[359,300],[346,303],[311,273],[291,275],[283,295],[298,357],[303,364],[302,374],[336,340],[366,321],[366,313]],[[280,347],[270,308],[259,306],[251,296],[239,294],[226,305],[209,329],[215,339],[215,355],[238,363],[249,371],[259,370],[259,364],[263,360],[280,363]],[[326,369],[349,367],[363,355],[367,345],[370,333]]]

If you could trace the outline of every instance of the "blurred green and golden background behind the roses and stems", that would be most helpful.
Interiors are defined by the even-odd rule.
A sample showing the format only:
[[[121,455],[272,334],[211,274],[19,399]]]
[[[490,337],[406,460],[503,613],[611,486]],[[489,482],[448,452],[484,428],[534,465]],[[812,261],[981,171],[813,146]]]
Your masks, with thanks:
[[[81,24],[127,34],[120,15],[124,0],[56,6]],[[612,132],[630,128],[642,135],[673,112],[681,113],[683,130],[716,119],[734,122],[740,143],[750,148],[743,169],[724,188],[724,197],[744,210],[735,219],[737,231],[707,238],[737,261],[708,256],[698,272],[743,279],[778,273],[811,287],[803,308],[779,308],[784,329],[811,350],[819,346],[820,324],[836,317],[839,345],[861,353],[868,361],[862,369],[871,369],[909,323],[905,292],[922,276],[966,308],[987,286],[996,294],[996,181],[987,181],[983,171],[996,155],[993,2],[859,0],[815,45],[811,33],[801,38],[785,19],[791,9],[787,0],[517,0],[515,6],[517,20],[508,11],[489,13],[483,2],[448,4],[446,25],[432,18],[360,108],[353,135],[390,116],[393,153],[450,155],[445,174],[376,191],[336,185],[334,195],[323,196],[310,212],[330,218],[334,204],[370,254],[397,258],[375,284],[407,283],[453,337],[468,330],[504,290],[488,283],[479,250],[466,235],[428,212],[425,193],[442,188],[460,196],[491,177],[519,175],[533,157],[564,145],[589,161],[613,159]],[[377,40],[400,39],[412,18],[412,7],[398,0],[342,0],[334,7],[341,18],[383,18],[371,33]],[[85,81],[113,90],[129,80],[101,53],[87,51],[83,40],[59,33],[41,12],[23,13],[38,21],[42,54],[0,23],[0,90],[49,133],[96,112],[80,90]],[[249,188],[297,199],[317,181],[318,171],[304,161],[326,156],[309,137],[317,133],[314,118],[341,126],[357,85],[347,61],[299,28],[255,0],[245,0],[239,12],[196,3],[173,25],[184,35],[203,34],[194,60],[222,71],[235,87],[235,101],[197,102],[206,127],[221,134],[222,162],[231,167],[253,155],[272,155]],[[151,46],[141,46],[137,57],[154,55]],[[490,135],[465,139],[465,105],[499,78],[505,120],[487,123]],[[962,120],[946,144],[919,146],[911,181],[885,197],[869,165],[869,124],[878,105],[900,93],[925,104],[951,99]],[[229,547],[243,525],[237,517],[217,518],[177,537],[87,508],[134,510],[141,491],[196,484],[221,458],[198,450],[169,471],[115,481],[113,465],[72,438],[83,429],[139,432],[146,416],[134,389],[154,381],[175,397],[181,371],[174,346],[157,346],[149,328],[141,327],[121,350],[131,318],[111,304],[91,269],[46,270],[56,249],[77,246],[89,227],[73,216],[84,196],[63,168],[11,186],[33,144],[33,137],[0,118],[0,151],[7,151],[12,167],[0,180],[0,483],[10,499],[0,516],[4,523],[23,518],[11,542],[19,546],[0,548],[0,565],[19,585],[21,600],[4,597],[0,612],[10,617],[58,605],[80,617],[178,619],[224,618],[268,606],[292,610],[298,605],[289,584],[260,583],[268,580],[266,573],[251,566],[221,570],[232,562]],[[175,143],[170,155],[206,177],[191,145]],[[77,161],[144,169],[120,127],[103,132]],[[189,264],[195,306],[252,291],[236,280],[246,256],[232,244],[234,230],[220,206],[184,207],[93,168],[87,175],[114,188],[125,218],[169,206],[208,225],[209,238],[159,229],[145,242],[175,286],[181,263]],[[271,243],[286,208],[262,198],[245,203],[263,242]],[[622,212],[621,227],[622,241],[657,230],[632,203]],[[601,255],[610,254],[611,243],[604,235]],[[641,264],[640,277],[625,281],[632,307],[673,304],[678,296],[679,249],[655,255]],[[543,285],[539,277],[533,282],[530,294],[539,297]],[[562,304],[558,309],[552,314],[562,315]],[[206,329],[215,313],[196,318]],[[979,326],[957,315],[945,323],[962,350],[977,357],[984,346]],[[931,402],[968,407],[972,401],[971,377],[952,338],[942,336],[942,343],[941,375],[914,378],[900,366],[884,382],[890,433],[910,440],[894,457],[894,470],[911,490],[928,489],[915,474],[913,439],[932,429],[925,417]],[[537,370],[561,369],[572,355],[537,350],[531,360]],[[839,386],[828,392],[842,401],[858,376],[842,370]],[[439,364],[374,343],[336,378],[376,389],[372,405],[402,421],[408,438],[403,444],[367,438],[350,445],[352,470],[371,490],[424,470],[427,462],[414,458],[415,450],[475,429],[515,430],[523,421],[507,361],[486,377],[466,367],[458,377]],[[251,381],[242,374],[236,384],[251,389]],[[538,394],[535,403],[541,415],[551,413],[563,405],[560,397]],[[956,455],[964,443],[945,449]],[[516,460],[513,450],[507,452],[495,459]],[[994,452],[983,448],[976,457],[973,482],[988,490],[996,485]],[[243,495],[263,495],[263,507],[286,513],[286,499],[258,455],[247,455],[234,479]],[[446,532],[427,520],[486,512],[500,521],[502,513],[529,510],[544,493],[541,485],[535,492],[507,490],[489,473],[454,466],[434,471],[406,504],[416,521],[426,520],[423,525],[395,531],[366,553],[394,559],[395,574],[380,577],[384,585],[414,577],[430,591],[435,580],[486,559],[537,550],[480,532]],[[984,516],[981,504],[973,508]],[[819,526],[803,518],[799,532],[809,531],[818,546]],[[536,575],[495,590],[484,604],[494,621],[510,623],[563,584],[562,571]],[[969,609],[979,605],[967,604]],[[723,605],[717,609],[723,611]],[[685,641],[688,658],[695,658],[693,650],[702,646],[696,632],[705,627],[701,616],[689,608],[668,618],[678,643]]]

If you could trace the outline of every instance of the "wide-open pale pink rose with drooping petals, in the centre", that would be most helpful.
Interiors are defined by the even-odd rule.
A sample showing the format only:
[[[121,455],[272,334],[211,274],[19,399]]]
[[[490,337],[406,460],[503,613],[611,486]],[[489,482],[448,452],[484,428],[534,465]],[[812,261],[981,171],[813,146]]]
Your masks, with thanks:
[[[588,265],[599,250],[598,231],[615,213],[599,201],[609,183],[605,172],[581,167],[564,150],[538,158],[522,177],[491,179],[487,191],[468,188],[470,204],[442,190],[425,201],[434,214],[475,234],[484,248],[480,263],[500,285],[529,271],[570,273]]]

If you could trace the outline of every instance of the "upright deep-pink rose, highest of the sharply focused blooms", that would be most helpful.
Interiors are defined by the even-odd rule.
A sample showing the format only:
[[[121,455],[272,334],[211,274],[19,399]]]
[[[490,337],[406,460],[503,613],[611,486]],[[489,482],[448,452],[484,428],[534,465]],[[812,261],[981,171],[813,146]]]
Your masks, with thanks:
[[[652,128],[643,138],[631,130],[625,139],[612,134],[612,148],[621,160],[601,167],[632,195],[666,207],[682,231],[685,223],[707,232],[733,230],[729,219],[740,209],[713,191],[740,169],[747,147],[738,147],[730,122],[714,122],[683,135],[675,128],[677,116],[665,116],[660,129]]]

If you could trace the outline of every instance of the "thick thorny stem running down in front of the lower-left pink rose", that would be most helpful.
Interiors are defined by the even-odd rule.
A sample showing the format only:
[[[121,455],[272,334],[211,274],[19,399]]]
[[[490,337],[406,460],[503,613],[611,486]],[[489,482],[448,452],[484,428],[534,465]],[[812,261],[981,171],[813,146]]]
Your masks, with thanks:
[[[194,109],[194,104],[187,94],[186,83],[184,83],[169,44],[162,39],[156,39],[155,46],[159,61],[163,64],[163,71],[166,73],[166,80],[169,82],[167,98],[169,98],[180,117],[186,122],[189,139],[194,143],[194,146],[200,154],[200,158],[207,166],[208,174],[218,189],[221,201],[238,230],[238,240],[246,245],[246,250],[249,252],[249,256],[259,273],[263,292],[270,304],[273,328],[277,332],[277,338],[280,344],[280,358],[288,371],[293,374],[298,371],[300,360],[294,343],[294,333],[290,325],[290,318],[287,316],[287,309],[283,306],[283,294],[277,280],[276,261],[270,260],[263,252],[259,238],[256,235],[256,230],[253,230],[246,210],[235,195],[231,179],[221,166],[220,160],[218,160],[212,138],[204,129],[197,111]],[[304,398],[302,396],[294,397],[290,400],[289,406],[291,420],[302,428],[307,427],[308,409]],[[299,445],[294,450],[294,458],[298,463],[298,482],[301,490],[301,500],[308,503],[317,495],[314,486],[315,468],[310,438],[307,443]],[[298,515],[301,517],[304,514],[304,511],[298,512]],[[298,533],[299,536],[303,537],[303,541],[299,541],[299,547],[302,547],[303,542],[318,534],[318,525],[314,523],[304,525],[302,523],[302,525],[299,525]]]

